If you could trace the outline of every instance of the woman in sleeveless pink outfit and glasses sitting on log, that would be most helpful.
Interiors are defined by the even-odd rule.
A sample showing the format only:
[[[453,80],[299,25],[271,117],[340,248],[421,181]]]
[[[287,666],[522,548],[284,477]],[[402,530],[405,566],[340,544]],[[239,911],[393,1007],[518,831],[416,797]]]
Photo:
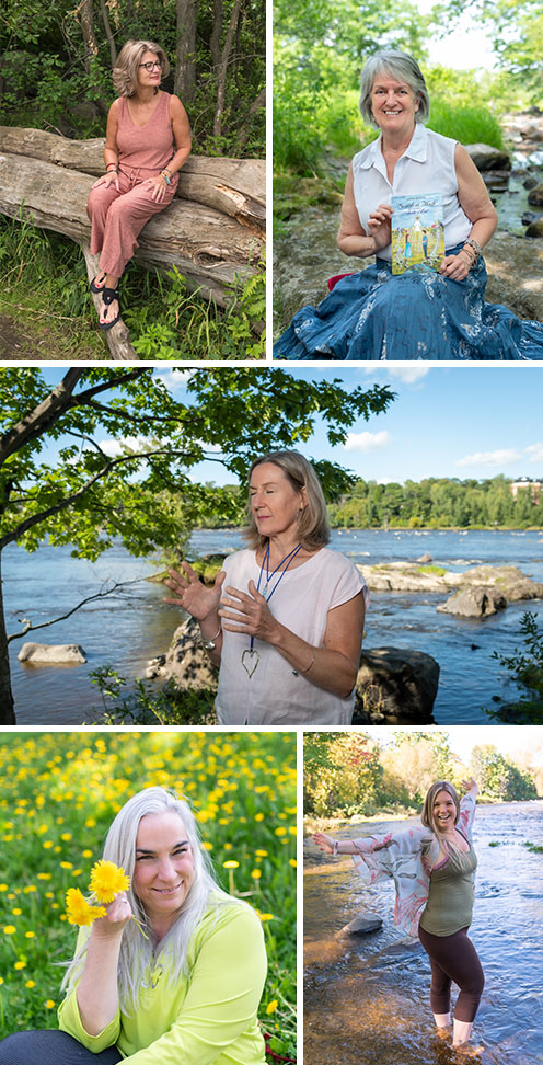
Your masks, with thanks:
[[[190,153],[190,127],[177,96],[159,89],[170,65],[151,41],[127,41],[113,71],[119,96],[109,108],[104,148],[106,173],[92,186],[91,254],[100,273],[91,290],[102,294],[99,328],[120,318],[118,280],[153,215],[172,202],[178,171]]]

